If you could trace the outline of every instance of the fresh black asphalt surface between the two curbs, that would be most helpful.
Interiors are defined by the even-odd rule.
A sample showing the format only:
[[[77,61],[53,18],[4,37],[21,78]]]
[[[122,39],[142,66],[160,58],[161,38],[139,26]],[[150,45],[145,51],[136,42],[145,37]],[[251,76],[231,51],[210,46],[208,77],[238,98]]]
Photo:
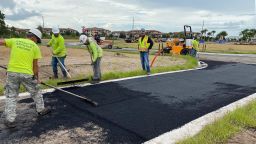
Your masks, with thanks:
[[[62,92],[47,93],[53,113],[32,125],[32,133],[16,136],[92,121],[107,131],[106,143],[142,143],[256,92],[256,65],[206,63],[203,70],[66,89],[97,101],[98,107]]]

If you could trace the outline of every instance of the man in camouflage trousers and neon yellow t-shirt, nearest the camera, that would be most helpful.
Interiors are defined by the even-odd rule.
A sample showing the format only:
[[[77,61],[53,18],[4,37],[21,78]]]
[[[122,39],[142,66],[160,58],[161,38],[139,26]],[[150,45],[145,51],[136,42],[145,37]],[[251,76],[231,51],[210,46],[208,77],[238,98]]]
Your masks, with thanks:
[[[39,91],[38,59],[42,56],[36,43],[41,42],[41,37],[42,34],[38,29],[31,29],[27,33],[27,39],[0,39],[0,45],[11,49],[7,68],[6,100],[3,113],[3,117],[5,117],[4,124],[8,128],[16,126],[16,103],[20,84],[31,94],[39,115],[46,115],[50,112],[48,108],[44,107],[43,96]]]

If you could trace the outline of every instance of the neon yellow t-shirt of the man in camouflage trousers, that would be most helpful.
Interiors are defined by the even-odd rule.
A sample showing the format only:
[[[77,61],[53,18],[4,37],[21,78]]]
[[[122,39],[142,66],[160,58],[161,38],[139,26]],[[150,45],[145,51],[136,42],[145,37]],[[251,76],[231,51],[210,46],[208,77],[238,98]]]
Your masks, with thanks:
[[[34,75],[33,60],[42,58],[37,44],[22,38],[5,39],[5,43],[11,48],[7,71]]]

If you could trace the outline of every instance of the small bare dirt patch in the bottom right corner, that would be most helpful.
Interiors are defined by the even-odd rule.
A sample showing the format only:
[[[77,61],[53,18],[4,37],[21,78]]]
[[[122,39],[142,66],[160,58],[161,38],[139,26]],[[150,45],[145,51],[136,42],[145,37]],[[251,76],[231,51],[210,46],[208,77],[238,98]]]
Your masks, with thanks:
[[[228,144],[255,144],[256,129],[246,129],[236,134],[227,142]]]

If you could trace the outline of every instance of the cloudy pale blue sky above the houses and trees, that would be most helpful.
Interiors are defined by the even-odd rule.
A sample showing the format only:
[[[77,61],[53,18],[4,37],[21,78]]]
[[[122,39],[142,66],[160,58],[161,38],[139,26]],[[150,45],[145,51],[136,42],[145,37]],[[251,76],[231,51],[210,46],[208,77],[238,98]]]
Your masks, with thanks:
[[[0,9],[10,26],[32,28],[82,26],[130,30],[142,27],[162,32],[182,31],[185,24],[194,31],[205,28],[238,35],[256,28],[256,0],[1,0]]]

